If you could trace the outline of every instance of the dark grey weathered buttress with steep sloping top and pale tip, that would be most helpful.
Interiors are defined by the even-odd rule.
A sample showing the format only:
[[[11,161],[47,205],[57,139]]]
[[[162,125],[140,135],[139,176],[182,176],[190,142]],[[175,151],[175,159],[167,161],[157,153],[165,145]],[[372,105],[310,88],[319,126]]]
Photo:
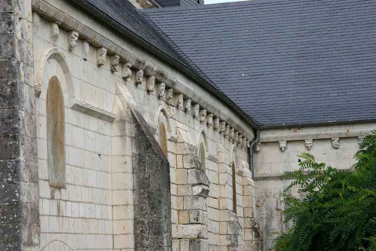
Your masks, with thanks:
[[[171,251],[171,191],[168,160],[125,85],[118,98],[134,116],[132,164],[135,251]]]

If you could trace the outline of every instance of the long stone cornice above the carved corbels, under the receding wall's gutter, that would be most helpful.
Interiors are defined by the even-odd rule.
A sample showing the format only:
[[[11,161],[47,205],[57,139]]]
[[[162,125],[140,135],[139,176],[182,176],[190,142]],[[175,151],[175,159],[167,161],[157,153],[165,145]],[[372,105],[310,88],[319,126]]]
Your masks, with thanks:
[[[225,122],[226,125],[229,125],[232,128],[234,128],[235,131],[241,134],[239,135],[241,136],[239,138],[246,138],[246,140],[244,141],[247,142],[246,144],[240,143],[242,147],[245,148],[249,146],[249,142],[254,139],[252,129],[236,123],[235,120],[231,118],[231,116],[221,111],[219,108],[215,107],[213,104],[208,102],[207,99],[203,98],[193,90],[189,89],[186,85],[181,83],[179,80],[175,79],[169,73],[166,73],[158,67],[154,67],[152,64],[143,61],[141,58],[135,56],[127,50],[124,50],[117,44],[113,43],[106,37],[96,32],[95,30],[89,28],[86,25],[83,25],[82,23],[78,22],[77,20],[73,19],[72,17],[68,16],[62,11],[52,7],[44,1],[32,0],[32,9],[47,21],[54,22],[66,30],[78,32],[78,36],[80,39],[86,40],[88,43],[92,44],[94,47],[97,47],[99,49],[106,49],[107,54],[118,55],[119,66],[121,64],[130,64],[130,67],[136,71],[143,70],[143,74],[145,76],[154,76],[158,82],[163,82],[166,84],[166,89],[172,88],[175,94],[181,93],[184,95],[185,100],[190,99],[192,101],[192,105],[199,104],[200,109],[207,110],[208,114],[212,114],[212,116],[214,116],[215,118],[219,118],[221,122]],[[226,135],[225,132],[223,133],[224,135]]]

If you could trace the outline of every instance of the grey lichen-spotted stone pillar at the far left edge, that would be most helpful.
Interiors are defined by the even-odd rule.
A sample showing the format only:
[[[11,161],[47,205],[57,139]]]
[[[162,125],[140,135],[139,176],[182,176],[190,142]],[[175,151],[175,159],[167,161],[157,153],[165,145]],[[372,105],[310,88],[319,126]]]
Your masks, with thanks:
[[[39,250],[31,3],[0,0],[0,250]]]

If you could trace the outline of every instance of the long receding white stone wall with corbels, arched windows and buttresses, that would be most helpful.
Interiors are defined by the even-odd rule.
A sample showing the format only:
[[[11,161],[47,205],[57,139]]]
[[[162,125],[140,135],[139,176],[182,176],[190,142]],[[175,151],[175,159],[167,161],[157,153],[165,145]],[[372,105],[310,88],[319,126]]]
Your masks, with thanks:
[[[32,6],[40,250],[259,250],[253,129],[76,5]],[[66,187],[48,176],[53,77],[64,97]],[[156,143],[168,172],[161,149],[149,151]]]

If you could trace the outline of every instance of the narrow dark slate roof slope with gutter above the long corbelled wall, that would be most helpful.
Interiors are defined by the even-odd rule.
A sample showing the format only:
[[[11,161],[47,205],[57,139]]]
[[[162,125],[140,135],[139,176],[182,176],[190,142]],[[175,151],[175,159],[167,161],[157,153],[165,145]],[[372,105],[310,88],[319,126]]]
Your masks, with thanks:
[[[136,44],[154,53],[191,77],[218,99],[228,104],[251,126],[257,123],[230,100],[165,34],[154,24],[146,22],[128,0],[72,0],[103,23],[118,30]]]

